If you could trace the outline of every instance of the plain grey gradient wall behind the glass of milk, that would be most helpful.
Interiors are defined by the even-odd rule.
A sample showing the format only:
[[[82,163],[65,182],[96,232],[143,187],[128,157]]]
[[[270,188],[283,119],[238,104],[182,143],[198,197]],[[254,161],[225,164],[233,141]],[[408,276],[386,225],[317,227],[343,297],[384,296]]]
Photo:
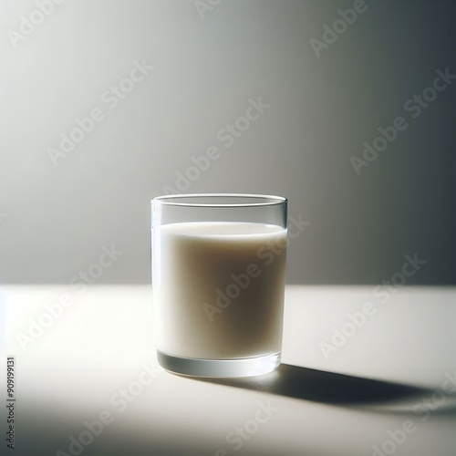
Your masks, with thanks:
[[[114,244],[97,282],[148,283],[150,198],[215,146],[186,192],[281,194],[310,222],[289,283],[377,284],[418,253],[408,284],[454,284],[456,82],[417,119],[404,103],[456,74],[456,3],[366,0],[320,57],[310,40],[353,1],[212,3],[202,19],[192,0],[67,0],[24,39],[11,30],[36,4],[1,3],[0,281],[67,284]],[[110,109],[102,94],[143,59],[154,69]],[[217,132],[260,97],[225,148]],[[55,166],[48,148],[96,108]],[[407,130],[357,175],[350,157],[398,116]]]

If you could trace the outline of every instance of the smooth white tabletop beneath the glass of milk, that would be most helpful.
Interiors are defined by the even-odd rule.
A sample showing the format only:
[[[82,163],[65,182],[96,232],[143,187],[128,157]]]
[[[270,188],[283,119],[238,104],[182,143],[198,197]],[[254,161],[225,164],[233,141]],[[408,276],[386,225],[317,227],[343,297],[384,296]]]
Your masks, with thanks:
[[[202,381],[143,373],[155,358],[150,286],[79,295],[65,286],[4,287],[0,384],[6,397],[5,358],[14,356],[16,453],[3,437],[0,454],[72,454],[69,438],[109,412],[112,422],[79,454],[368,456],[411,420],[414,431],[384,454],[454,456],[456,393],[445,379],[456,381],[456,289],[404,287],[386,302],[373,289],[287,286],[284,364],[261,378]],[[21,347],[18,333],[28,334],[30,319],[46,323],[46,306],[65,293],[74,303]],[[325,358],[320,344],[331,342],[332,327],[366,302],[375,315]],[[120,402],[121,389],[137,396]],[[260,404],[272,411],[255,429]],[[0,415],[5,436],[4,406]],[[226,436],[246,423],[252,433],[236,451]]]

